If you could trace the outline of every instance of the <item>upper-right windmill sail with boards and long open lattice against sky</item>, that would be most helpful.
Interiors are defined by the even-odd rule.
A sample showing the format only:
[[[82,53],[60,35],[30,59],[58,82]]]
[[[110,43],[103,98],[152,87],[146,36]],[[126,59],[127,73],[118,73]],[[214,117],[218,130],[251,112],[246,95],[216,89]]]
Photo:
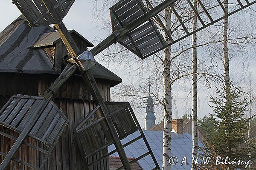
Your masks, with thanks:
[[[225,10],[220,0],[212,0],[208,3],[198,0],[198,3],[199,7],[195,9],[191,0],[166,0],[155,7],[148,0],[120,0],[110,8],[113,34],[91,52],[96,55],[114,42],[119,42],[141,59],[145,59],[253,5],[256,0],[229,0],[229,11]],[[167,6],[172,8],[174,30],[167,30],[160,19],[160,12]],[[197,29],[192,31],[194,13],[200,22]],[[163,32],[168,35],[170,43],[167,44],[163,40],[161,36]]]

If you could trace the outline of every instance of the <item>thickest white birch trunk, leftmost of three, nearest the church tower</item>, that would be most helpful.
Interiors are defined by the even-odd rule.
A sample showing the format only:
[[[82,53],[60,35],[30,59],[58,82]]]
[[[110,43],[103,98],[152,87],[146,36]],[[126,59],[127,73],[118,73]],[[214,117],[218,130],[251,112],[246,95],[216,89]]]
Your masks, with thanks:
[[[171,27],[171,11],[170,7],[164,10],[164,25],[167,30]],[[167,43],[170,42],[168,35],[164,35]],[[171,165],[169,159],[171,157],[171,142],[172,142],[172,88],[170,77],[170,60],[171,60],[171,47],[164,50],[163,54],[163,82],[164,82],[164,96],[163,102],[165,105],[163,117],[163,165],[162,170],[170,170]]]

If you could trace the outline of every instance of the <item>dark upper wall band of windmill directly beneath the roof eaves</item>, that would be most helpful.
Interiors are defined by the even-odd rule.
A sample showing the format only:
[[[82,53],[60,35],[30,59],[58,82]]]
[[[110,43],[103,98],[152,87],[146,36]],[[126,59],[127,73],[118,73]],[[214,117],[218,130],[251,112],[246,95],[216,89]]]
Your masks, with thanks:
[[[44,91],[47,90],[57,77],[57,75],[47,74],[0,73],[0,108],[6,104],[11,96],[17,94],[43,96]],[[101,79],[96,79],[96,82],[104,101],[110,101],[111,82]],[[55,94],[55,97],[81,99],[83,101],[92,99],[80,76],[70,77]]]

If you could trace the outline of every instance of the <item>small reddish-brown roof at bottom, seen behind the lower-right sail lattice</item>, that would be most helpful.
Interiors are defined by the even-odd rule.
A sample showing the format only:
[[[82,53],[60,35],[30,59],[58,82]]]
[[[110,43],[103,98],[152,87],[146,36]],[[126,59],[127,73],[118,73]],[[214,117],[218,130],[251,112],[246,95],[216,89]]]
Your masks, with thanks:
[[[134,158],[127,158],[128,161],[134,160]],[[122,167],[122,161],[117,156],[109,156],[109,170],[116,170],[119,167]],[[131,164],[131,170],[143,170],[137,161]]]

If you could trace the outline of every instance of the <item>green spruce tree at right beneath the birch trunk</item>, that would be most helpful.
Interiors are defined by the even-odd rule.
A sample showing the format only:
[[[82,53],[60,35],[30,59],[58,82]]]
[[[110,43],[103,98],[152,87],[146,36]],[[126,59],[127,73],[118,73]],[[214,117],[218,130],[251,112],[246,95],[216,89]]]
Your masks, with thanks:
[[[248,102],[241,96],[241,91],[238,88],[231,86],[228,96],[226,96],[224,88],[217,90],[217,94],[217,97],[210,97],[212,113],[209,114],[209,122],[213,127],[209,128],[203,123],[204,130],[207,132],[205,136],[207,142],[203,142],[203,147],[200,148],[201,157],[206,156],[212,159],[208,166],[201,164],[201,169],[233,170],[239,168],[239,165],[216,166],[216,156],[221,156],[224,159],[228,157],[231,161],[248,161],[244,150],[244,136],[249,119],[244,117],[244,112],[247,111],[250,101]]]

